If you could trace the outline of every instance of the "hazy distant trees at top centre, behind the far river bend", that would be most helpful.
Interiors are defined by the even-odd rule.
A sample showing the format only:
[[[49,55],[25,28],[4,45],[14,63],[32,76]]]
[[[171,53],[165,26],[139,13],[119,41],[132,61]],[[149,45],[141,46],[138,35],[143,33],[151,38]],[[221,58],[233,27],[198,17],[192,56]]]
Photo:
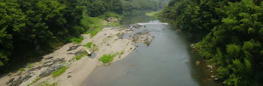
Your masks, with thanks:
[[[118,14],[134,10],[156,11],[163,9],[167,0],[79,0],[88,9],[89,16],[96,17],[106,11]]]

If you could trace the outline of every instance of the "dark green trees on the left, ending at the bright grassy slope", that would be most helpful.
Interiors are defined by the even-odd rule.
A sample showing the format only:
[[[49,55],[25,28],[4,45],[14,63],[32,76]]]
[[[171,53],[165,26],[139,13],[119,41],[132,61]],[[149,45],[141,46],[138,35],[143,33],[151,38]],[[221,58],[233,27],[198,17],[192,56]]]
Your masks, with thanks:
[[[76,0],[0,0],[0,72],[84,33],[82,11]]]

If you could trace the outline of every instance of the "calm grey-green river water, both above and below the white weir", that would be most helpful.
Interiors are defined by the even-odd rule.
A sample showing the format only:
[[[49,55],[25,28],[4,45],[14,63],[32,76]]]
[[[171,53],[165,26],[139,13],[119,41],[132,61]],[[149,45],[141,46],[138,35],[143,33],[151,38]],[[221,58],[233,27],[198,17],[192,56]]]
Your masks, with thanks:
[[[136,13],[126,16],[123,24],[160,23],[160,20]],[[149,46],[142,43],[126,58],[99,67],[83,86],[220,86],[211,78],[204,59],[192,53],[187,35],[167,24],[147,24],[134,30],[148,30],[154,39]],[[200,61],[200,65],[196,65]],[[135,66],[130,66],[136,64]]]

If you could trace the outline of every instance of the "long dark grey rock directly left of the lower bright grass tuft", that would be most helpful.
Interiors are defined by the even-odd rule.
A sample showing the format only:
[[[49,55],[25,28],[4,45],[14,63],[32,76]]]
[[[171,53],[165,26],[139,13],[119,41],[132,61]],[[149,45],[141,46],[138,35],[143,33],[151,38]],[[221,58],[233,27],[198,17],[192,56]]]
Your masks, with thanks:
[[[61,68],[61,65],[56,65],[53,66],[51,68],[48,68],[47,70],[44,70],[43,72],[41,72],[39,74],[39,77],[47,77],[48,75],[50,75],[53,71],[59,70],[59,68]]]

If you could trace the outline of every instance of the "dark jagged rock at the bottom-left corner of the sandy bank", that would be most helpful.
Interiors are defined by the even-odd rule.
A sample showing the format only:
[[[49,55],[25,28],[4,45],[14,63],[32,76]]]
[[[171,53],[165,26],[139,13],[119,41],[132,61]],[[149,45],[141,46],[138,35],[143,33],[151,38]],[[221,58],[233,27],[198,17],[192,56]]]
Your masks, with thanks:
[[[32,77],[32,76],[30,76],[29,74],[27,74],[27,75],[25,75],[23,77],[20,76],[17,80],[13,81],[8,86],[19,86],[24,81],[27,81],[30,77]]]

